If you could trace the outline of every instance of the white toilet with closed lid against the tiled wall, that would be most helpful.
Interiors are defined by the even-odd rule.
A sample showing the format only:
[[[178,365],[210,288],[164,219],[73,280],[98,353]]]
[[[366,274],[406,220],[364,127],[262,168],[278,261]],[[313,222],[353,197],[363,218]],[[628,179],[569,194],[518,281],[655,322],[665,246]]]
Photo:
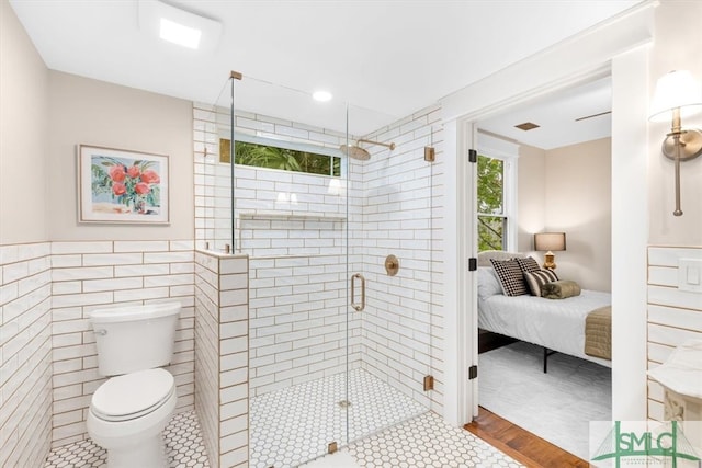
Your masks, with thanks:
[[[168,467],[162,431],[176,409],[173,355],[179,303],[124,306],[90,315],[98,372],[111,376],[93,393],[88,434],[107,449],[107,466]],[[114,376],[114,377],[112,377]]]

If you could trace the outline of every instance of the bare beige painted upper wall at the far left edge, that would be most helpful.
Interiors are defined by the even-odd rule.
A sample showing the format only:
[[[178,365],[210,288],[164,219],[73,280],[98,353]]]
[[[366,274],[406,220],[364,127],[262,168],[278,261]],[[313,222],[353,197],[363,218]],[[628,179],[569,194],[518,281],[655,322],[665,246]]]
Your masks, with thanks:
[[[0,244],[47,240],[48,70],[0,1]]]

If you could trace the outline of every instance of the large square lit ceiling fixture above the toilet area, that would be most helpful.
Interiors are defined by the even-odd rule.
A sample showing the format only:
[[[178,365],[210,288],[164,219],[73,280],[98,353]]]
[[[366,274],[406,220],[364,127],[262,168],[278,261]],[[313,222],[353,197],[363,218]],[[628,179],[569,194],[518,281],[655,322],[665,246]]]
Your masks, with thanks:
[[[157,0],[138,1],[139,28],[163,41],[197,50],[219,43],[222,24]]]

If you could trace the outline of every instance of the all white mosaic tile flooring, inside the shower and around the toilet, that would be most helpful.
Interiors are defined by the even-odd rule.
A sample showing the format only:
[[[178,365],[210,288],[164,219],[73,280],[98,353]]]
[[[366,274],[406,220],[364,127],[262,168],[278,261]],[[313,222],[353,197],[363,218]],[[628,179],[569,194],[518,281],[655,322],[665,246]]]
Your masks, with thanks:
[[[343,375],[252,398],[249,466],[286,468],[319,457],[330,442],[328,434],[343,441],[347,410],[350,438],[371,435],[317,458],[308,468],[521,466],[370,374],[359,369],[350,377],[348,409],[338,404],[346,398]],[[194,411],[176,414],[165,440],[172,468],[210,466]],[[98,468],[105,461],[105,450],[88,440],[55,448],[45,468]]]

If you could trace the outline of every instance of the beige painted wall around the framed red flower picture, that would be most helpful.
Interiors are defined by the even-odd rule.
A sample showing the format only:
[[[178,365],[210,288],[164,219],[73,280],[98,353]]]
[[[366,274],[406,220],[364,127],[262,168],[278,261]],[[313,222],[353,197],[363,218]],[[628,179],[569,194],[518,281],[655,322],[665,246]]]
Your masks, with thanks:
[[[193,239],[191,102],[52,70],[48,114],[50,240]],[[170,226],[78,224],[80,144],[168,155]]]

